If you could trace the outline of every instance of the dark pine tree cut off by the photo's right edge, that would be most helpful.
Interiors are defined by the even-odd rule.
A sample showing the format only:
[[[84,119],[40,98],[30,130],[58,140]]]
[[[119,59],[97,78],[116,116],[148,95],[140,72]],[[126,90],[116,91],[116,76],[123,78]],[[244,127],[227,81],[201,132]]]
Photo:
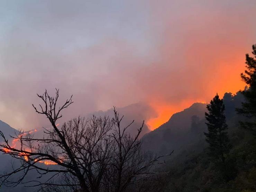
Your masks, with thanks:
[[[242,107],[237,109],[238,114],[242,114],[250,118],[250,121],[240,122],[241,126],[249,129],[256,135],[256,44],[252,46],[254,57],[246,54],[246,70],[241,73],[242,80],[247,84],[244,91],[241,93],[245,97],[245,102],[242,102]]]

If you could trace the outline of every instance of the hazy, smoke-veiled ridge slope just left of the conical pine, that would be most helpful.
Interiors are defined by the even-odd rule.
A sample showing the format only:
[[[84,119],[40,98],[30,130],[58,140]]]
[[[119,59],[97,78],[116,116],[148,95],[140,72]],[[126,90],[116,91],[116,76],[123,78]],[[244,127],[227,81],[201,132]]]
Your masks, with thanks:
[[[205,103],[194,103],[187,109],[177,112],[163,125],[144,135],[143,148],[158,154],[175,154],[203,139]]]

